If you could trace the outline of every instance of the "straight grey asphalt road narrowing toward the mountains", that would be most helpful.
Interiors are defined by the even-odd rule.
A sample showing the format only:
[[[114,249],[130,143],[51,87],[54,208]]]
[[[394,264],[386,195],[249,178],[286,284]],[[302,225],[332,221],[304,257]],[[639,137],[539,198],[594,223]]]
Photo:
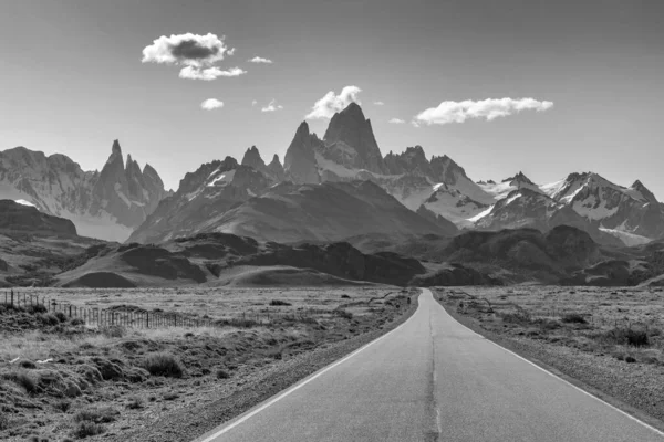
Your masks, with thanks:
[[[428,290],[401,327],[200,442],[664,441],[664,435],[488,341]]]

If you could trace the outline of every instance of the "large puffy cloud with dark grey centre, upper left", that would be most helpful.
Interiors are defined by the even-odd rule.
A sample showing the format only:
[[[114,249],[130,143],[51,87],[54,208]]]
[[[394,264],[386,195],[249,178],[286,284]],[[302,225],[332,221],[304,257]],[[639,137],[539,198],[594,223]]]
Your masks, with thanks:
[[[186,66],[209,66],[224,60],[224,55],[232,55],[235,49],[228,49],[221,38],[208,33],[162,35],[153,44],[143,49],[143,63],[179,64]]]

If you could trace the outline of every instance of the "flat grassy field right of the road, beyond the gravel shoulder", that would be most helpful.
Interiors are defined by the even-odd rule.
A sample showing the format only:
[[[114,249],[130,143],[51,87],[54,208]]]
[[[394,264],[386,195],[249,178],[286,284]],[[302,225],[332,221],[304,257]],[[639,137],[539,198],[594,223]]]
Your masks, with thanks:
[[[457,312],[480,319],[484,328],[645,364],[664,364],[663,292],[596,287],[440,291]]]

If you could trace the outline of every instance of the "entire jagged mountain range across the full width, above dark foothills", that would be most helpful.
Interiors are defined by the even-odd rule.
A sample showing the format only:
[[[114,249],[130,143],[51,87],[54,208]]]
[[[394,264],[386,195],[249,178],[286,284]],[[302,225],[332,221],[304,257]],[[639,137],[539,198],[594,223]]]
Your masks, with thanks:
[[[276,242],[452,236],[561,224],[616,246],[664,238],[664,204],[641,181],[625,188],[583,172],[537,185],[519,172],[476,182],[452,158],[429,159],[421,146],[383,156],[355,103],[331,118],[322,139],[301,123],[283,164],[277,155],[266,164],[252,146],[240,162],[226,157],[186,173],[173,194],[152,167],[141,171],[131,157],[123,166],[117,143],[101,173],[24,148],[0,152],[0,167],[1,198],[69,218],[83,235],[104,238],[90,225],[114,227],[122,232],[114,239],[129,242],[207,232]],[[49,185],[35,185],[44,179]]]

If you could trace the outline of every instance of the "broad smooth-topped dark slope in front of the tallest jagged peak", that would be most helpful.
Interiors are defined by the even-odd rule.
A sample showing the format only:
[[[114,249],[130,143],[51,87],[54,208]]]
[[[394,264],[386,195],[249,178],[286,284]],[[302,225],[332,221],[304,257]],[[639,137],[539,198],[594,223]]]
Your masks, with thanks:
[[[262,176],[251,168],[230,164],[225,167],[234,167],[226,171],[227,176],[234,173],[232,179],[211,188],[212,173],[196,191],[178,191],[162,202],[129,241],[164,242],[224,232],[287,243],[325,242],[370,232],[396,238],[425,233],[450,235],[457,230],[433,213],[427,218],[408,210],[371,181],[271,185],[261,181]],[[203,175],[206,173],[207,170]],[[248,189],[247,182],[237,181],[240,175],[252,173],[256,173],[253,190]]]

